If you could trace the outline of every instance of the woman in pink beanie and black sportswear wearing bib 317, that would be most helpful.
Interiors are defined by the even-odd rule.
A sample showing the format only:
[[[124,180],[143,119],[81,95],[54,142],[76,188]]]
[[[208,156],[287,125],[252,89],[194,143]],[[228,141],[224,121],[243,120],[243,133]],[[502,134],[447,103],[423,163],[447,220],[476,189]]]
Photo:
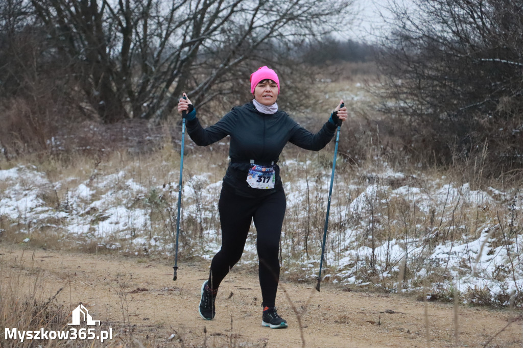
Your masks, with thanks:
[[[251,74],[251,93],[254,96],[251,102],[233,108],[206,129],[200,125],[196,110],[185,93],[187,99],[181,98],[178,103],[178,112],[187,112],[187,133],[197,145],[207,146],[231,136],[230,163],[218,202],[222,246],[212,259],[209,280],[201,286],[198,311],[205,320],[214,318],[218,287],[240,260],[254,220],[263,300],[261,324],[270,328],[287,328],[287,321],[277,314],[275,308],[280,274],[278,250],[286,207],[278,158],[287,142],[316,151],[325,147],[334,136],[338,120],[347,119],[347,108],[340,108],[343,100],[340,101],[322,129],[312,134],[286,112],[278,110],[276,100],[280,82],[274,70],[263,66]]]

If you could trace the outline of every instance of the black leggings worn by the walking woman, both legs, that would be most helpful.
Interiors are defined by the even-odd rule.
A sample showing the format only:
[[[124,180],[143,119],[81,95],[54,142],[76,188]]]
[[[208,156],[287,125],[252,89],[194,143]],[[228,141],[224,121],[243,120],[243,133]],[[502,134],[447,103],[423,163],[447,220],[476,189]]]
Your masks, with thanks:
[[[280,276],[278,250],[285,207],[282,188],[261,198],[247,198],[235,194],[230,185],[223,184],[218,202],[222,247],[211,262],[209,284],[212,289],[218,289],[229,270],[242,257],[254,219],[261,297],[264,306],[274,307]]]

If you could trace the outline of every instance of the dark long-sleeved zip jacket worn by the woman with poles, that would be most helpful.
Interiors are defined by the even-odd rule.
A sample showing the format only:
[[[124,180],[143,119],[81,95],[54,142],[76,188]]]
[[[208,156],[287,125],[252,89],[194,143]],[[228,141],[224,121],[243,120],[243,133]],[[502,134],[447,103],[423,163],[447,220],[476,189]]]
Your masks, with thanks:
[[[269,166],[279,159],[283,147],[290,142],[308,150],[318,151],[332,140],[336,126],[325,122],[322,129],[312,134],[296,123],[284,111],[261,113],[252,102],[235,107],[212,126],[203,129],[198,119],[187,122],[187,133],[199,146],[215,143],[230,135],[231,162],[223,181],[236,188],[238,194],[259,196],[282,188],[279,167],[276,165],[276,186],[272,190],[249,187],[246,182],[251,159],[258,165]],[[263,192],[261,192],[263,191]]]

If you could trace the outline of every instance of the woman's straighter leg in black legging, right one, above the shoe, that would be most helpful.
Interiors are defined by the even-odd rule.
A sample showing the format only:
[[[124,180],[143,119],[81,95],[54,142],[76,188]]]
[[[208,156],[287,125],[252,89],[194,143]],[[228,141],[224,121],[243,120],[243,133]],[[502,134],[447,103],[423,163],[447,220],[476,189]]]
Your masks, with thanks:
[[[263,298],[264,306],[267,307],[274,307],[276,301],[280,277],[278,250],[285,208],[285,192],[279,190],[262,199],[254,213],[261,297]]]

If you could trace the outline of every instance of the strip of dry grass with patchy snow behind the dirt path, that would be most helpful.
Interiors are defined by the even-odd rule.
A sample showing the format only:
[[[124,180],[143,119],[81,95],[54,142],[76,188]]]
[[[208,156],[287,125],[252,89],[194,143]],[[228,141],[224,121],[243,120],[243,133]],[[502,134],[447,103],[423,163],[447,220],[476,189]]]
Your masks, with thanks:
[[[305,165],[305,177],[294,175],[303,174]],[[314,171],[311,161],[288,160],[281,166],[293,178],[285,183],[282,270],[310,281],[319,267],[331,173]],[[167,176],[177,178],[178,173]],[[361,177],[336,175],[325,281],[432,295],[486,291],[497,305],[521,296],[518,190],[474,190],[451,178],[407,177],[386,166]],[[209,173],[184,178],[180,256],[210,259],[219,249],[220,187],[221,181]],[[171,254],[177,196],[177,184],[163,178],[138,180],[126,168],[84,181],[53,181],[37,167],[20,165],[0,170],[0,238],[10,231],[22,243],[51,238],[82,248],[92,241],[121,252]],[[256,262],[254,238],[249,238],[243,263]]]

